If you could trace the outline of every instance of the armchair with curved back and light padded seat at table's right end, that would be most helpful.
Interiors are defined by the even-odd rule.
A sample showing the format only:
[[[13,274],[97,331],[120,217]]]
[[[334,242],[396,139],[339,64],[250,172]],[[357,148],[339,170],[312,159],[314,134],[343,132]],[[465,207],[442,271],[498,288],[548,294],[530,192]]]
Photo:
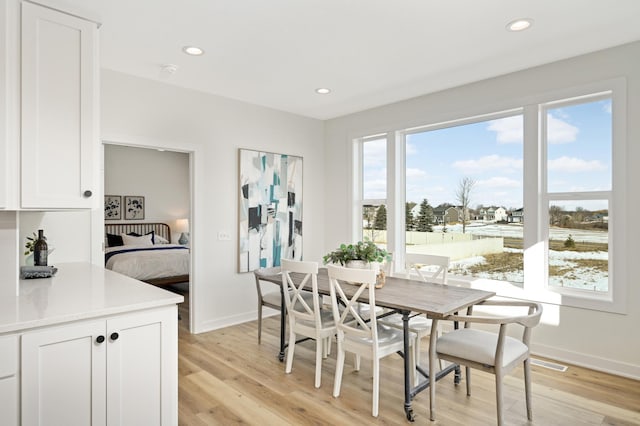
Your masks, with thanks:
[[[486,371],[496,376],[496,405],[498,426],[504,424],[502,403],[502,379],[524,363],[524,389],[527,418],[533,420],[531,408],[531,362],[530,342],[531,329],[538,325],[542,315],[542,305],[534,302],[486,300],[477,305],[482,307],[483,314],[474,314],[474,307],[467,309],[466,315],[449,315],[444,320],[462,321],[464,328],[444,333],[441,337],[431,336],[429,345],[429,377],[435,377],[435,360],[444,359],[465,366],[467,396],[471,396],[471,368]],[[497,309],[497,311],[495,311]],[[505,315],[504,310],[509,314]],[[523,310],[514,314],[514,310]],[[438,320],[433,319],[433,327]],[[490,332],[471,328],[472,323],[485,327],[497,328],[498,332]],[[508,327],[520,327],[522,337],[507,335]],[[436,381],[430,383],[431,420],[435,420]]]

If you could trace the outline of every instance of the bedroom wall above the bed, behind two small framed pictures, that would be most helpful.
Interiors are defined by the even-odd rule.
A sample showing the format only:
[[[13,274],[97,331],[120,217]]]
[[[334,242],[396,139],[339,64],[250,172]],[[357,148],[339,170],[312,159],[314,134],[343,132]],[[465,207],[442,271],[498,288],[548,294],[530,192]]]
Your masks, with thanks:
[[[177,241],[176,220],[190,214],[189,154],[106,144],[104,193],[123,197],[122,203],[125,195],[145,197],[144,222],[167,223]],[[128,222],[124,210],[121,217],[107,223]]]

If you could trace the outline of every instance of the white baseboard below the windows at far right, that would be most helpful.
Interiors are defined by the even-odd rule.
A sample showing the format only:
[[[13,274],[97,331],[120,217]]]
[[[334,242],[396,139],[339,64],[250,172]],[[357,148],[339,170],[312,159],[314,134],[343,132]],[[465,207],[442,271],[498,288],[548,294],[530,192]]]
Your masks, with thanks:
[[[553,346],[532,343],[533,355],[549,358],[555,361],[566,362],[579,367],[590,368],[616,376],[640,380],[640,365],[629,364],[607,358],[601,358],[581,352],[567,351]],[[569,367],[571,368],[571,367]]]

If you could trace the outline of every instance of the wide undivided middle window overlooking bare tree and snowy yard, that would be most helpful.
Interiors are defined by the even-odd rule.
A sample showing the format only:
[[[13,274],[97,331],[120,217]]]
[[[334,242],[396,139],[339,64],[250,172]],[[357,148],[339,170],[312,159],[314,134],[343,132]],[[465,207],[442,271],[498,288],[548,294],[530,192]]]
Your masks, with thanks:
[[[447,255],[453,274],[522,283],[521,114],[405,137],[406,252]]]

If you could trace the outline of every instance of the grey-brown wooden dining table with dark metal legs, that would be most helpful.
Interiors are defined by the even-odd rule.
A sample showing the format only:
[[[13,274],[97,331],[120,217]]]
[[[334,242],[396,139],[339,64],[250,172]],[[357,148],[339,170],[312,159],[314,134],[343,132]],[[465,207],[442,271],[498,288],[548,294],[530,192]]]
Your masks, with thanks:
[[[291,274],[291,278],[295,283],[300,283],[302,274]],[[261,275],[260,279],[270,281],[276,284],[280,284],[282,294],[282,312],[281,318],[285,316],[285,302],[284,291],[282,287],[282,275]],[[349,288],[349,287],[346,287]],[[357,286],[353,286],[353,292],[357,290]],[[348,290],[346,290],[348,292]],[[321,295],[330,295],[329,276],[326,268],[320,268],[318,270],[318,293]],[[447,315],[455,314],[462,311],[471,305],[475,305],[483,300],[489,299],[495,296],[495,293],[477,290],[468,287],[458,287],[454,285],[443,285],[424,282],[421,280],[399,278],[394,276],[387,276],[385,285],[382,288],[376,289],[375,304],[378,307],[388,308],[402,314],[403,320],[403,332],[404,332],[404,354],[408,354],[410,350],[409,341],[409,319],[415,315],[426,315],[429,318],[443,318]],[[361,301],[367,303],[369,295],[367,292],[363,293]],[[282,327],[285,326],[285,322],[282,322]],[[284,341],[284,332],[280,333],[280,360],[284,360],[284,349],[286,343]],[[409,363],[409,357],[404,356],[404,411],[409,421],[414,421],[413,408],[411,407],[411,401],[413,398],[429,387],[430,377],[424,369],[417,367],[418,371],[425,380],[417,383],[413,388],[411,387],[411,366]],[[460,378],[460,367],[455,364],[451,364],[441,370],[435,377],[435,380],[440,380],[447,374],[455,371],[456,382]]]

